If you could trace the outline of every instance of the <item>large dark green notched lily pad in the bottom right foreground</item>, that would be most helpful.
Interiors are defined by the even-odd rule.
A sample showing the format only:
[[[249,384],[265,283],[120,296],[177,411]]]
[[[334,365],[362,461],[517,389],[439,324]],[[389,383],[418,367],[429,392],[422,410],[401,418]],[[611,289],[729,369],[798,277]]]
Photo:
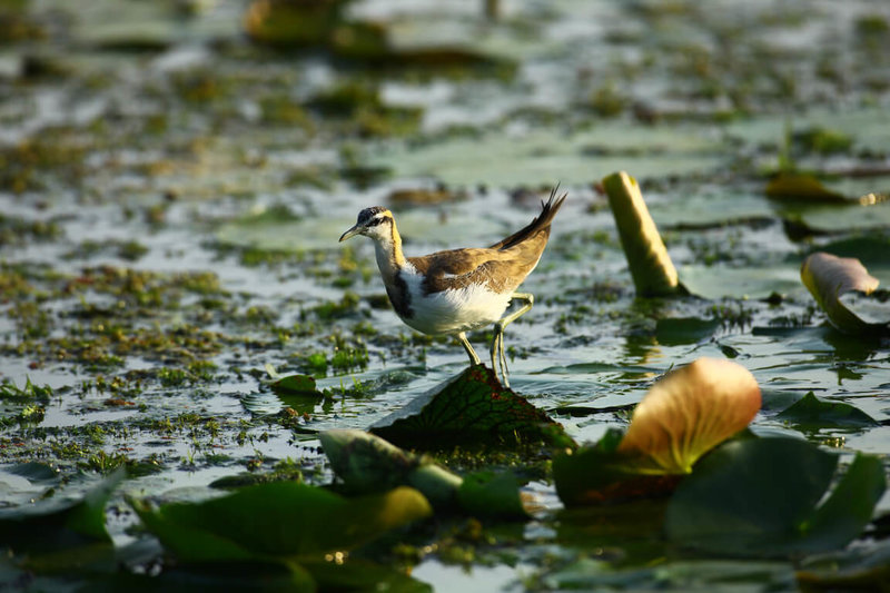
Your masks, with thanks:
[[[859,455],[817,508],[837,463],[837,455],[793,438],[726,443],[678,487],[665,515],[668,537],[740,556],[842,547],[868,523],[886,477],[879,459]]]

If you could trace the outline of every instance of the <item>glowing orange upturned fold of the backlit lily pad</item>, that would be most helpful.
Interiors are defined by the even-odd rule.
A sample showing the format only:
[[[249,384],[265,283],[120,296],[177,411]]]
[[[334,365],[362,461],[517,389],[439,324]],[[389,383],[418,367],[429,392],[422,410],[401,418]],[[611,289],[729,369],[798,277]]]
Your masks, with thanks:
[[[760,404],[758,382],[746,368],[699,358],[652,386],[617,452],[645,457],[640,473],[688,474],[699,457],[745,428]]]

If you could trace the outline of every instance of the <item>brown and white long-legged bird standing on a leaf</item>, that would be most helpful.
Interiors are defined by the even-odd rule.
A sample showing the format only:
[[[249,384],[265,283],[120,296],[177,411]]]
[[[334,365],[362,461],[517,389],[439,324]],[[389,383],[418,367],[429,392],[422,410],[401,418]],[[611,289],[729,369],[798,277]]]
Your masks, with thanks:
[[[456,336],[472,366],[482,362],[466,333],[493,324],[492,370],[497,377],[500,365],[498,380],[510,388],[504,328],[534,305],[534,295],[517,293],[516,288],[537,266],[553,217],[567,197],[563,194],[557,198],[557,189],[553,188],[546,202],[541,201],[541,214],[534,220],[491,247],[405,257],[393,213],[383,206],[359,211],[356,224],[339,241],[356,235],[370,238],[386,294],[398,317],[422,334]],[[522,305],[504,315],[513,300]]]

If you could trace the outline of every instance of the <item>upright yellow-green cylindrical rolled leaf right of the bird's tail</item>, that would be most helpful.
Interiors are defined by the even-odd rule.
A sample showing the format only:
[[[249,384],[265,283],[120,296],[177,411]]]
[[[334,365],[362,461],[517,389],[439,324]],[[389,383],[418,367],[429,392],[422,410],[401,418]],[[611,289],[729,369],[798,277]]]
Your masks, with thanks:
[[[685,294],[636,179],[624,171],[603,179],[621,245],[640,296]]]

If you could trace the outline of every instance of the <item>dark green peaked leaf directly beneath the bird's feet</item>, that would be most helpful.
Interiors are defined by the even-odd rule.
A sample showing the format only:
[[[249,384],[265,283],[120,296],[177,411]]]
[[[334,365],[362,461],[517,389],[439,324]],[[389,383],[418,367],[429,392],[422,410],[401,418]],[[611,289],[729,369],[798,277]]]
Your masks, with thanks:
[[[520,443],[571,446],[560,424],[502,387],[482,365],[419,396],[370,432],[413,448]]]

